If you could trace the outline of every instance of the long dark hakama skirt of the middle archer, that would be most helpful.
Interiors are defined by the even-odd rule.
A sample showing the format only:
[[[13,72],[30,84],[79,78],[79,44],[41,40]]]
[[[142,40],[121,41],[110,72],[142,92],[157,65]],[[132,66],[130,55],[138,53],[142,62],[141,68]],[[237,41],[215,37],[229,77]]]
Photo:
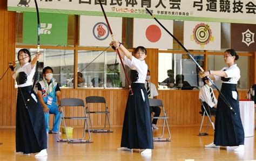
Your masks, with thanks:
[[[133,95],[129,95],[125,109],[121,147],[153,149],[150,106],[144,83],[132,83],[132,90]]]

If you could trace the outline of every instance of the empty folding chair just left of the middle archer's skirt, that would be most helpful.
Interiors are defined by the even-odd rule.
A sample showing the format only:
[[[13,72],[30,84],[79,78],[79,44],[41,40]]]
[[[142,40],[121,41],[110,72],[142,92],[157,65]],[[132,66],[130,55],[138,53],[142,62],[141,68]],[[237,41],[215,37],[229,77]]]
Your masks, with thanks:
[[[85,101],[86,101],[86,112],[89,114],[89,120],[90,120],[92,132],[113,132],[110,130],[111,126],[109,121],[109,108],[107,107],[105,98],[100,96],[88,96],[85,98]],[[89,104],[91,103],[103,103],[105,106],[105,110],[90,111]],[[90,114],[105,114],[105,125],[103,129],[93,129]],[[106,122],[109,123],[109,129],[106,129]]]

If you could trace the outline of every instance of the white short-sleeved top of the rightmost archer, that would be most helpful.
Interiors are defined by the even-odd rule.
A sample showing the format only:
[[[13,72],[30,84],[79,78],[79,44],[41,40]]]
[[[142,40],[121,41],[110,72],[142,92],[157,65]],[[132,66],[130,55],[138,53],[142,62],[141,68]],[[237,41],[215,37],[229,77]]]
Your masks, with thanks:
[[[223,81],[223,83],[229,83],[229,84],[237,84],[238,80],[240,79],[240,69],[237,66],[237,64],[232,65],[231,67],[224,67],[221,69],[221,71],[224,71],[227,74],[227,77],[230,78],[227,81]],[[220,76],[214,75],[215,80],[221,80]]]

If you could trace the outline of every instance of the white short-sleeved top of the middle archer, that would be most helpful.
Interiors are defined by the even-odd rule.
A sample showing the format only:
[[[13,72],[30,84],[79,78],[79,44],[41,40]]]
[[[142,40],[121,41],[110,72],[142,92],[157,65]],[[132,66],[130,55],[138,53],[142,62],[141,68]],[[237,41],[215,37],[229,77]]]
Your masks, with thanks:
[[[147,64],[145,60],[139,60],[132,56],[132,60],[124,57],[124,64],[139,73],[139,79],[134,83],[145,83],[147,76]]]

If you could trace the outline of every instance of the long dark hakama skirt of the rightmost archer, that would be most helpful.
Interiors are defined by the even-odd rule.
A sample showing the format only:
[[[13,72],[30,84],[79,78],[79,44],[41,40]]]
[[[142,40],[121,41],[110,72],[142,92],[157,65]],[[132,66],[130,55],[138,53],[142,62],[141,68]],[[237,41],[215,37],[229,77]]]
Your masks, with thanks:
[[[224,103],[221,97],[218,97],[216,119],[215,119],[215,133],[214,144],[220,146],[238,146],[244,145],[244,128],[242,127],[239,98],[233,99],[232,91],[237,92],[236,85],[223,83],[221,86],[221,93],[226,97],[237,115],[234,115],[227,104]]]

